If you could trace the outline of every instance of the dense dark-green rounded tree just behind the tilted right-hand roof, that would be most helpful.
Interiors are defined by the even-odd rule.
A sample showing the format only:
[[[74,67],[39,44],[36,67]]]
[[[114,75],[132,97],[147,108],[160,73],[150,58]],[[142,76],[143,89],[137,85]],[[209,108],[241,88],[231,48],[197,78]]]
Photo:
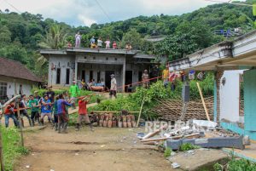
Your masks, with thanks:
[[[185,21],[177,26],[173,35],[156,45],[156,54],[166,55],[169,60],[183,58],[201,48],[216,43],[214,35],[207,24],[200,21]]]

